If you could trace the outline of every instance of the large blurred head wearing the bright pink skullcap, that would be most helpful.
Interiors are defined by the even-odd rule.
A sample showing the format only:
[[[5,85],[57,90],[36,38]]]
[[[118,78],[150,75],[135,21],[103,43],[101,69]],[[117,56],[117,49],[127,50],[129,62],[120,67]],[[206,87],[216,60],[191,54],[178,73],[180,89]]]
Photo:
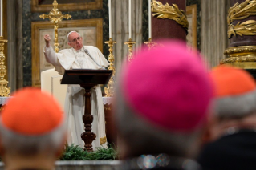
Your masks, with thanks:
[[[197,151],[213,89],[200,56],[182,42],[142,50],[124,68],[115,121],[125,158]]]

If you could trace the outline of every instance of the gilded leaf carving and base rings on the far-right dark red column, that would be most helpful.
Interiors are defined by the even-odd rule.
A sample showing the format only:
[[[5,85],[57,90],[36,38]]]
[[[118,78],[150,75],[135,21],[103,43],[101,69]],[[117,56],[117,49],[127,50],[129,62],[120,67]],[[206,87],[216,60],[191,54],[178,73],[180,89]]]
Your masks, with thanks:
[[[256,15],[256,0],[246,0],[242,3],[237,2],[234,6],[230,7],[227,17],[228,38],[232,38],[232,36],[256,35],[256,21],[239,21],[253,15]],[[238,22],[233,24],[234,21]],[[226,59],[222,59],[221,64],[228,64],[243,69],[256,68],[256,46],[229,47],[224,54]]]

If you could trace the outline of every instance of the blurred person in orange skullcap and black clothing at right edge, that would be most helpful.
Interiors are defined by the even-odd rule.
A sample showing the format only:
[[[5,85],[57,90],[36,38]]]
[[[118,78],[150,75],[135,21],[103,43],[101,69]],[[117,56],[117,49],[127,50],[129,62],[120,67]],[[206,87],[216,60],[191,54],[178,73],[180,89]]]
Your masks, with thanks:
[[[256,168],[256,83],[239,68],[221,66],[210,72],[215,85],[215,111],[209,119],[209,143],[198,161],[203,169]]]

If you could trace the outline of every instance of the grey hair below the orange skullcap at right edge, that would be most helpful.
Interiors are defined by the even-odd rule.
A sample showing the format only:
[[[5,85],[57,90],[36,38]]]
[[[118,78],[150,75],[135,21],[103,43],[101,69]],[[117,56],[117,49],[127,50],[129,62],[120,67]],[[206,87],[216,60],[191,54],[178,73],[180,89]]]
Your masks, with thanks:
[[[219,97],[214,103],[215,114],[219,119],[241,119],[256,113],[256,90],[245,95]]]

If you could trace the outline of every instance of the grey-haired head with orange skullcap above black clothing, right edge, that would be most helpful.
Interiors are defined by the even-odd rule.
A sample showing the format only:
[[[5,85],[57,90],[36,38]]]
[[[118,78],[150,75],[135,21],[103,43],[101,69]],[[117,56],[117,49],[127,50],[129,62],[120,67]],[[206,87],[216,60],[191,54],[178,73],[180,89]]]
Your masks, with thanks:
[[[251,121],[256,116],[254,78],[247,71],[229,66],[215,67],[210,76],[215,87],[211,139],[221,136],[222,131],[230,126],[254,125]]]

